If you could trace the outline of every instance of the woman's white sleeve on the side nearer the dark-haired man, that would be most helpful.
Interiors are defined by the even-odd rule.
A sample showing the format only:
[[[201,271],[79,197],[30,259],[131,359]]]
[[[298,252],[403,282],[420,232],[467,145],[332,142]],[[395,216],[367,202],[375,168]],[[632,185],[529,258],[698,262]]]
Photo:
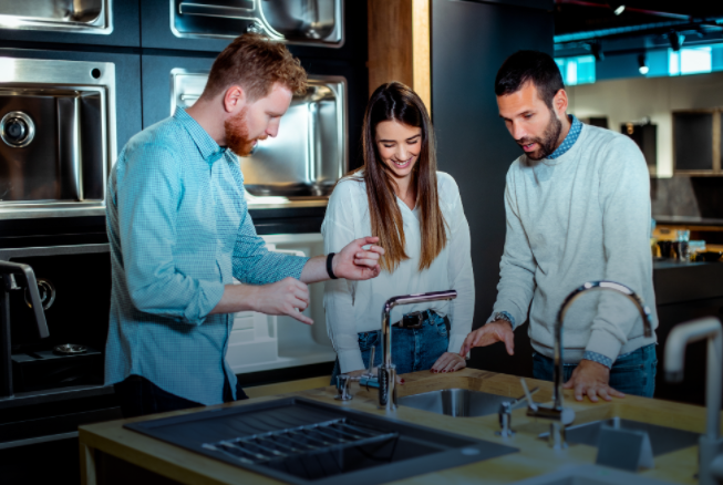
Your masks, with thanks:
[[[452,178],[452,177],[450,177]],[[457,298],[450,305],[450,352],[458,353],[464,339],[472,331],[472,320],[475,311],[475,279],[472,272],[472,249],[469,241],[469,224],[462,208],[459,188],[452,179],[453,200],[450,211],[450,288],[457,290]]]

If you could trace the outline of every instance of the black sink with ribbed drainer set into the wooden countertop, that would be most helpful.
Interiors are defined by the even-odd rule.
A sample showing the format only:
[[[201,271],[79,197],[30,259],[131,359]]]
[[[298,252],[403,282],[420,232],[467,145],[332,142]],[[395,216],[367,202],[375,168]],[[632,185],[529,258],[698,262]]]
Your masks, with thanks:
[[[379,484],[517,451],[300,398],[125,427],[293,484]]]

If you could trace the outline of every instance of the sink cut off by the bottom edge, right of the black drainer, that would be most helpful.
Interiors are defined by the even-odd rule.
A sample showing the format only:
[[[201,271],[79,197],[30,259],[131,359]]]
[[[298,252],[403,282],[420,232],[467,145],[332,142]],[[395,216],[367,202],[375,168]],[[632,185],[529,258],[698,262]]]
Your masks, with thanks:
[[[599,465],[570,466],[547,475],[515,482],[514,485],[664,485],[668,482],[647,478]]]

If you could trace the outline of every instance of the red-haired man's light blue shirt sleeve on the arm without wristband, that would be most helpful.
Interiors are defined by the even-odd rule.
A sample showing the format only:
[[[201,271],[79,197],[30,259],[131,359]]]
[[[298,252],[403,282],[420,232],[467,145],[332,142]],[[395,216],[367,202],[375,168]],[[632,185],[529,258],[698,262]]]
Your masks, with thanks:
[[[202,324],[224,295],[220,281],[192,278],[174,262],[183,193],[177,157],[163,144],[133,151],[116,194],[126,285],[141,311]]]

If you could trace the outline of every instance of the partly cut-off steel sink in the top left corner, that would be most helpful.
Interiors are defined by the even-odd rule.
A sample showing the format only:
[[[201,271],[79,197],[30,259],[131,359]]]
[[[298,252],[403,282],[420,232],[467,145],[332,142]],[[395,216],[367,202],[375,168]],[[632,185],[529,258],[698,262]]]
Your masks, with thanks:
[[[0,0],[0,29],[113,32],[112,0]]]

